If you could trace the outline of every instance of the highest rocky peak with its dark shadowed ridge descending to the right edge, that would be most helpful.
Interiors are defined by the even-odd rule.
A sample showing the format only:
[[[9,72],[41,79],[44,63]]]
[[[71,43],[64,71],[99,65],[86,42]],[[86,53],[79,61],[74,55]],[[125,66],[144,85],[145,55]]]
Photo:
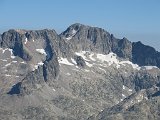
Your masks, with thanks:
[[[159,52],[141,42],[130,42],[127,38],[117,39],[104,29],[82,24],[73,24],[60,34],[73,51],[91,51],[129,59],[140,66],[160,67]],[[142,51],[142,52],[141,52]],[[149,53],[149,54],[148,54]]]

